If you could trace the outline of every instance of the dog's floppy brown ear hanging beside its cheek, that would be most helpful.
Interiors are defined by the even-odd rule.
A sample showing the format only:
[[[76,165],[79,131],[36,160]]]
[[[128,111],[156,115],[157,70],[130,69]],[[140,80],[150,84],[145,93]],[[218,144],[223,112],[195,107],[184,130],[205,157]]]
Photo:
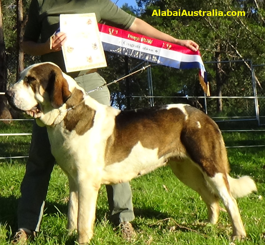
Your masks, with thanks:
[[[71,96],[66,79],[62,73],[56,73],[54,70],[49,74],[47,91],[55,109],[61,107]]]

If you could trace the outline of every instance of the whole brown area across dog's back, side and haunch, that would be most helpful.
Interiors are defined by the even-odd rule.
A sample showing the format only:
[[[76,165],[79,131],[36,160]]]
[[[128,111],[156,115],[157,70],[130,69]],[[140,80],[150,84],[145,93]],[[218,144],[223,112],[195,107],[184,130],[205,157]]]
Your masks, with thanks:
[[[158,158],[181,160],[187,155],[210,177],[228,173],[227,153],[216,123],[191,106],[185,106],[185,111],[177,107],[122,111],[107,142],[107,164],[121,162],[140,142],[145,148],[157,148]]]

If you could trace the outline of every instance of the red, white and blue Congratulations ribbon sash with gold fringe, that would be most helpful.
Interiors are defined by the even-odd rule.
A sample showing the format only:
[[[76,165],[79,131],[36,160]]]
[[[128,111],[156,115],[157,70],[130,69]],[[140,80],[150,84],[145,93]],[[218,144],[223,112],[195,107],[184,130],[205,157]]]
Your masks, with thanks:
[[[209,93],[206,70],[199,51],[151,37],[125,31],[105,24],[98,24],[105,51],[135,57],[177,69],[198,68],[199,80],[204,92]]]

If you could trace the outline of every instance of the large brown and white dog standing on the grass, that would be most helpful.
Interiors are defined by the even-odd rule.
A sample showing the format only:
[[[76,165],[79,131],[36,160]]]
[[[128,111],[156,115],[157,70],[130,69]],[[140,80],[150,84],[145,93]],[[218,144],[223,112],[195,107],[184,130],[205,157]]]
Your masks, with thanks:
[[[120,111],[86,96],[52,63],[26,68],[6,96],[47,126],[52,154],[69,178],[67,227],[77,229],[80,244],[92,238],[101,184],[127,182],[165,164],[201,195],[209,222],[218,220],[220,198],[232,238],[246,237],[235,198],[256,185],[248,176],[229,176],[221,131],[200,110],[173,104]]]

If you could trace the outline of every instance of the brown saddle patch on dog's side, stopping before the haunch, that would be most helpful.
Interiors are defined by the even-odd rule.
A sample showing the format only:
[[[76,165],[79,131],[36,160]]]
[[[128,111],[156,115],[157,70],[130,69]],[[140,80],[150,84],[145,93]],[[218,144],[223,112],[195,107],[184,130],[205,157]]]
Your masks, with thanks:
[[[148,149],[158,148],[159,158],[172,152],[172,147],[185,151],[180,142],[184,119],[178,108],[168,110],[165,106],[122,111],[115,118],[115,129],[107,142],[111,146],[106,152],[108,164],[124,160],[139,141]]]

